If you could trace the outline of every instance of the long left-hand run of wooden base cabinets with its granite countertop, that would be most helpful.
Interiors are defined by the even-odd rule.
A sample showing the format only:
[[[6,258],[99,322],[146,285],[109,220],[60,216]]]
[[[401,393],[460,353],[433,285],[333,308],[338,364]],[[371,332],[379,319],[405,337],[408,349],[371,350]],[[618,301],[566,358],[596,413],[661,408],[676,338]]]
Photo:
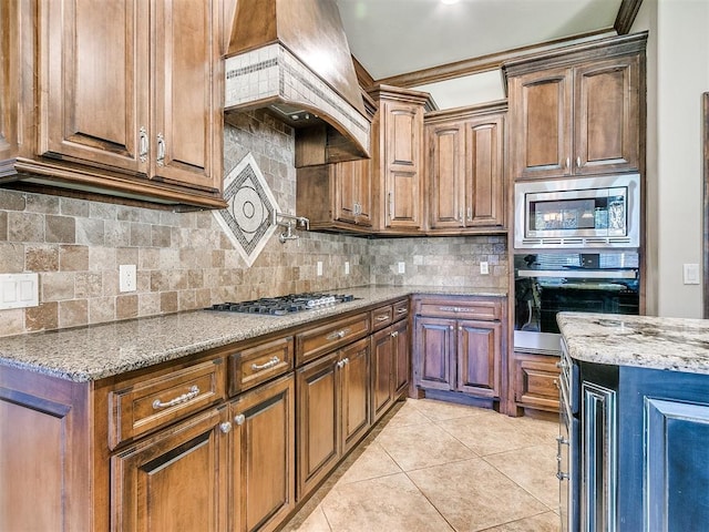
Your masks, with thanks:
[[[0,530],[276,530],[409,393],[410,296],[506,305],[347,291],[0,338]]]

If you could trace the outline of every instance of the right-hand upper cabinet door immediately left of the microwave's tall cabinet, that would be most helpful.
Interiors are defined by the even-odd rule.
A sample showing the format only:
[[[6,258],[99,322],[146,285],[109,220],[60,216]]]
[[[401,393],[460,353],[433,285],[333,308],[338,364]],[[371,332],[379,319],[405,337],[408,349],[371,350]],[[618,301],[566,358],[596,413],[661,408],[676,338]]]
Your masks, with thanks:
[[[465,226],[504,225],[502,116],[474,121],[465,134]]]

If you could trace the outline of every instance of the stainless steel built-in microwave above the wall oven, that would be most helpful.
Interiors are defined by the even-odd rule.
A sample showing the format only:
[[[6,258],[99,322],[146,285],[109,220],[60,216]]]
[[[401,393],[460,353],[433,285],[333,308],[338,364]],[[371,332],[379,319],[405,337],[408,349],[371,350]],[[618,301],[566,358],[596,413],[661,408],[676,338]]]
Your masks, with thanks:
[[[640,176],[515,183],[514,247],[637,248]]]

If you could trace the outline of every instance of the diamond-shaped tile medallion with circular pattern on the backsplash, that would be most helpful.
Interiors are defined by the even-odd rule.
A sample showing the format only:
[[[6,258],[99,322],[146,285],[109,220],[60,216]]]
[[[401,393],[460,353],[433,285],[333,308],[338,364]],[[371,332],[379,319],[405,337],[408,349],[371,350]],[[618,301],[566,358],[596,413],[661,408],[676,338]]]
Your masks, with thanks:
[[[254,155],[246,155],[224,178],[224,198],[229,206],[214,216],[248,266],[251,266],[276,231],[278,204]]]

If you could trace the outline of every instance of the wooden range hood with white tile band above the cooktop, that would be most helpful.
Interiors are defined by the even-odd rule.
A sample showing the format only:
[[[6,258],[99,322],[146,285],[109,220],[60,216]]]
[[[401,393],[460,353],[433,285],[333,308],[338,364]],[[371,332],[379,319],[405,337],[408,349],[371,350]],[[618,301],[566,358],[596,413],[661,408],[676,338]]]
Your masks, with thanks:
[[[369,156],[370,115],[335,0],[237,0],[225,75],[225,120],[266,109],[291,125],[296,166]]]

